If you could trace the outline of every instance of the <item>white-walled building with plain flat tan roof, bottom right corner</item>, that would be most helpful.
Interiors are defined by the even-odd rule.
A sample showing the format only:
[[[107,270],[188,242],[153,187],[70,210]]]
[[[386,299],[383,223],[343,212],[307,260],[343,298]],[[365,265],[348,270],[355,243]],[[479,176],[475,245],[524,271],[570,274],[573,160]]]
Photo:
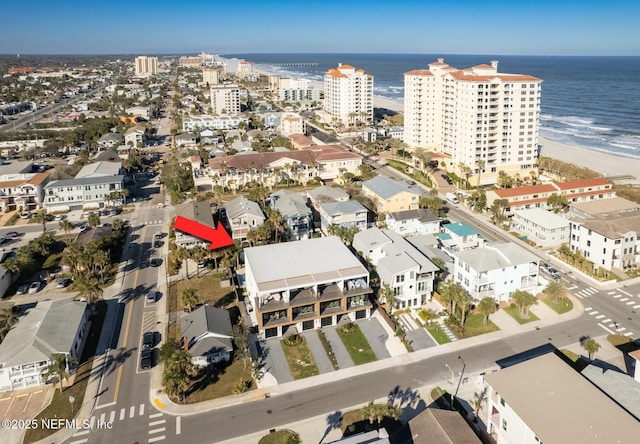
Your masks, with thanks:
[[[485,376],[485,424],[498,444],[632,443],[640,423],[554,353]]]

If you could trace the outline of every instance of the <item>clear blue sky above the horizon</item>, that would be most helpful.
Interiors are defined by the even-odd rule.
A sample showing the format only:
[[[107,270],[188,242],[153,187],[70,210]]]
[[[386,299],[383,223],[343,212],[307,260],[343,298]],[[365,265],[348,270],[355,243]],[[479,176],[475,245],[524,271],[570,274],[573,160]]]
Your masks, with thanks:
[[[1,54],[640,55],[640,1],[4,1]]]

